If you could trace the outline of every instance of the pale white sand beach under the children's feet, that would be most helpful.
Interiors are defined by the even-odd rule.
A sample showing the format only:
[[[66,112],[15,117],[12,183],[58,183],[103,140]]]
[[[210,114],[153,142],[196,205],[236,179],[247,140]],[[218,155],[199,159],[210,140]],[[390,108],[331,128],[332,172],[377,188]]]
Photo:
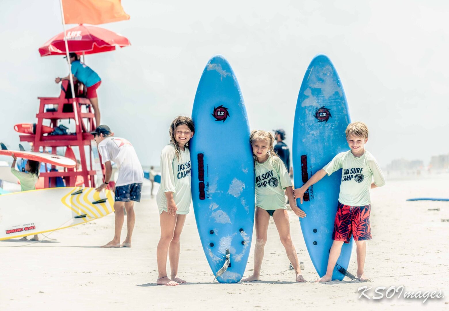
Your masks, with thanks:
[[[313,283],[318,275],[305,248],[299,220],[291,212],[291,233],[298,256],[305,264],[304,278],[293,282],[293,271],[277,236],[274,223],[262,265],[262,281],[240,284],[213,283],[214,276],[202,251],[193,209],[181,235],[179,276],[188,284],[156,285],[158,209],[149,188],[136,204],[132,248],[101,249],[113,235],[114,216],[55,231],[39,243],[0,242],[0,310],[310,310],[363,308],[363,310],[415,310],[449,308],[448,202],[407,202],[410,197],[447,197],[447,176],[387,181],[372,194],[371,229],[365,274],[361,283],[345,278],[327,284]],[[440,209],[429,211],[428,209]],[[273,222],[271,220],[271,222]],[[123,238],[126,235],[126,222]],[[40,235],[40,237],[42,237]],[[254,249],[254,245],[252,245]],[[251,251],[246,275],[253,267]],[[355,248],[348,270],[357,268]],[[405,291],[441,290],[444,298],[358,299],[361,286],[404,285]],[[385,293],[385,291],[383,292]]]

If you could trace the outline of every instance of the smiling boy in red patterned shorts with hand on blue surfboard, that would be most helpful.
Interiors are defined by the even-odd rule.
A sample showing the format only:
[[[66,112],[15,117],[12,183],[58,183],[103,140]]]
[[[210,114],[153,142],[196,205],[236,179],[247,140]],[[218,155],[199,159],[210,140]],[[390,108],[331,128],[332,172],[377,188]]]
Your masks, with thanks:
[[[349,243],[351,235],[357,245],[357,278],[366,281],[364,274],[366,257],[366,240],[371,240],[370,189],[385,185],[382,171],[374,156],[365,150],[368,142],[368,128],[363,122],[354,122],[346,128],[346,140],[349,151],[335,155],[324,168],[304,184],[295,189],[295,198],[303,204],[303,196],[308,187],[319,182],[324,176],[343,169],[340,183],[338,209],[335,215],[334,231],[332,233],[332,247],[329,252],[326,275],[317,282],[332,280],[332,271],[340,256],[343,243]],[[372,180],[374,179],[374,182]]]

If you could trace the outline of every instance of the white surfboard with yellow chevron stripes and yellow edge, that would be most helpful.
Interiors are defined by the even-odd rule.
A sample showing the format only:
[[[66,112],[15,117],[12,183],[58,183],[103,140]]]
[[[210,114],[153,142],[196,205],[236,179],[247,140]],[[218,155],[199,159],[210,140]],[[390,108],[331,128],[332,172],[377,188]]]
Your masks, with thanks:
[[[60,187],[0,195],[0,240],[73,227],[114,212],[110,190]]]

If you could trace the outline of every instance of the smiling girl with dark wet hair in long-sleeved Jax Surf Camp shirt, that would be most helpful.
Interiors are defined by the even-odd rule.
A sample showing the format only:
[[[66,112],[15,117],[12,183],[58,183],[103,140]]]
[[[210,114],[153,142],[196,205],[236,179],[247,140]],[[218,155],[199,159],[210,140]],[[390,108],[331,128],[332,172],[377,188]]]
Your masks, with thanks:
[[[170,125],[170,143],[161,152],[161,186],[156,197],[161,224],[161,238],[157,249],[159,285],[186,283],[177,274],[179,238],[192,200],[189,140],[194,136],[194,131],[192,119],[176,117]],[[170,260],[170,277],[167,276],[167,255]]]

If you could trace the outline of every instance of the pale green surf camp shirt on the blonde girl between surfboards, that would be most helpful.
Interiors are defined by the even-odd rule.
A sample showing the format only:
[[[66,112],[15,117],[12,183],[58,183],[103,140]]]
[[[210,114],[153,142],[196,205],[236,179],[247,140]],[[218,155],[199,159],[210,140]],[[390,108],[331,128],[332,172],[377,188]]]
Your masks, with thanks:
[[[291,179],[278,156],[270,155],[264,163],[255,162],[255,205],[261,209],[286,209],[285,188]]]

